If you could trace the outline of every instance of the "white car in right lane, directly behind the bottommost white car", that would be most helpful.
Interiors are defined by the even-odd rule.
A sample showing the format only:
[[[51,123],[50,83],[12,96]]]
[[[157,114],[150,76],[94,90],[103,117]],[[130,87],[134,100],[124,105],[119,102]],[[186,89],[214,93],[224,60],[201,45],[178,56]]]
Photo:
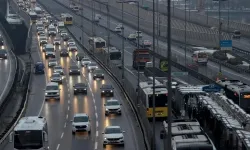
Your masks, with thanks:
[[[106,102],[106,104],[104,104],[104,106],[105,106],[105,115],[106,116],[108,116],[109,114],[112,114],[112,113],[118,114],[118,115],[122,114],[121,104],[116,99],[107,100],[107,102]]]

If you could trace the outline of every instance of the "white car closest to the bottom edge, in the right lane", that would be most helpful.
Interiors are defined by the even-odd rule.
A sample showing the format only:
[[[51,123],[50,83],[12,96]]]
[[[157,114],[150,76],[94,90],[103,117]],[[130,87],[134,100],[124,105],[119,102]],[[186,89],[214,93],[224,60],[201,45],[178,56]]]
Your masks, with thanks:
[[[103,134],[103,147],[106,145],[122,145],[124,146],[125,131],[122,131],[120,126],[107,126]]]

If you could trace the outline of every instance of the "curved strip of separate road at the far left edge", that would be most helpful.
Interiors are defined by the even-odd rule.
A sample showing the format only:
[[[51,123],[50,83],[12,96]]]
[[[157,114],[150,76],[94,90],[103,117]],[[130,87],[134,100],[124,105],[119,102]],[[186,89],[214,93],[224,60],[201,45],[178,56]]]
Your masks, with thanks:
[[[0,31],[0,35],[2,35],[4,39],[4,45],[0,46],[0,49],[6,49],[7,51],[7,59],[0,59],[0,104],[2,103],[2,98],[4,97],[6,92],[9,92],[9,84],[11,80],[14,80],[14,75],[11,74],[12,71],[14,71],[15,67],[15,61],[13,58],[13,52],[10,52],[11,49],[9,46],[9,43],[6,40],[6,37],[2,34],[2,31]]]

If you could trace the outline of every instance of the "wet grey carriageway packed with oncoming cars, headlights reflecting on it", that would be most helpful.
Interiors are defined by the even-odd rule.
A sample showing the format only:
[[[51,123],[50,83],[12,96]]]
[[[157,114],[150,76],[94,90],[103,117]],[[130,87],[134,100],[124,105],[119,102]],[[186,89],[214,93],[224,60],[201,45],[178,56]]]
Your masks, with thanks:
[[[81,69],[80,76],[69,76],[69,66],[79,65],[75,61],[76,53],[70,53],[70,57],[60,58],[59,50],[65,47],[61,45],[56,48],[56,58],[59,64],[64,68],[64,81],[60,85],[60,101],[50,100],[44,101],[44,89],[46,83],[49,82],[52,74],[52,69],[48,68],[48,61],[45,60],[44,54],[38,46],[36,36],[36,29],[33,27],[33,46],[32,58],[34,62],[43,61],[46,67],[45,75],[33,75],[32,91],[29,98],[29,104],[26,111],[26,116],[41,115],[46,117],[48,121],[49,143],[52,150],[80,150],[82,148],[88,150],[102,149],[102,132],[104,127],[109,125],[119,125],[126,131],[125,133],[125,147],[107,146],[106,149],[129,149],[141,150],[143,149],[143,142],[140,141],[140,133],[133,118],[133,114],[129,109],[123,94],[116,86],[114,81],[105,74],[105,80],[93,81],[93,76],[88,73],[85,68]],[[53,38],[50,38],[50,42]],[[62,42],[63,43],[63,42]],[[79,47],[79,46],[78,46]],[[79,49],[79,51],[82,51]],[[79,65],[80,66],[80,65]],[[75,83],[84,82],[88,84],[88,94],[73,95],[73,86]],[[114,99],[118,99],[122,105],[122,115],[105,117],[104,103],[110,98],[101,98],[100,87],[102,84],[111,84],[115,88]],[[71,122],[75,113],[87,113],[91,119],[92,131],[91,135],[85,133],[77,133],[72,136]],[[13,149],[13,145],[9,144],[5,150]]]

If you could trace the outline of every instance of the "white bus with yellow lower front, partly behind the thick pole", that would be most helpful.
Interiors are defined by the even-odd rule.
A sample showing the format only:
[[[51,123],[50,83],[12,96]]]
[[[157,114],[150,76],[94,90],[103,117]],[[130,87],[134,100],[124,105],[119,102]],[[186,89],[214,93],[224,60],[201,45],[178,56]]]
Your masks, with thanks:
[[[140,82],[140,99],[147,109],[146,116],[149,120],[153,118],[153,88],[155,89],[155,117],[166,118],[168,116],[168,90],[166,86],[156,80],[153,87],[153,81]]]

